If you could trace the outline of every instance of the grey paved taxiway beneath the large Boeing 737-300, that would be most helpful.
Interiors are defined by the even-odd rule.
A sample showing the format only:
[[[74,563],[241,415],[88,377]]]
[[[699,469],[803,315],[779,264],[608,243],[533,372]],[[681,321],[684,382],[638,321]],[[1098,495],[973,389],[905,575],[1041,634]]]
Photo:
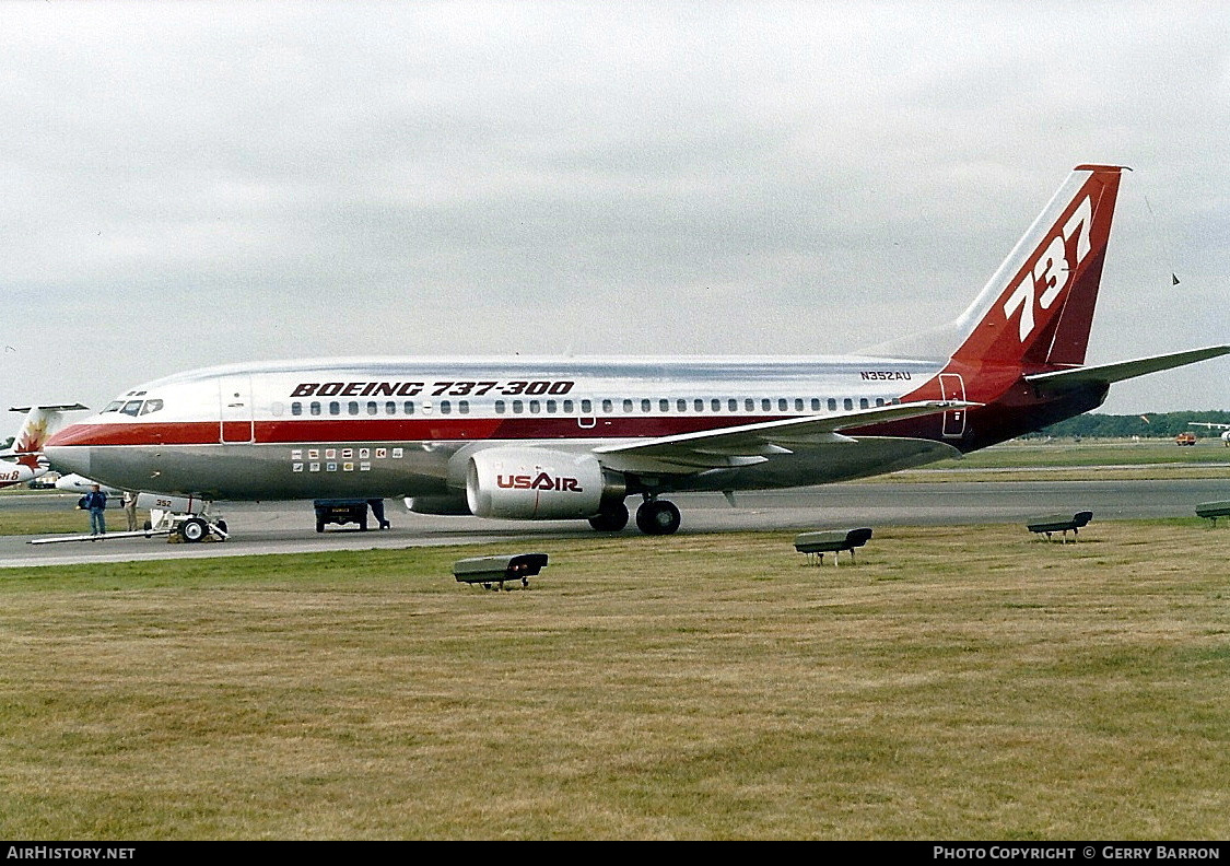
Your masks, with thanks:
[[[10,496],[0,509],[71,510],[75,495]],[[1200,502],[1230,498],[1230,477],[1170,481],[1002,481],[844,483],[736,495],[732,508],[715,493],[678,495],[680,534],[770,531],[970,523],[1025,523],[1032,515],[1092,510],[1098,520],[1192,517]],[[630,501],[630,504],[632,502]],[[111,539],[30,545],[33,536],[0,538],[0,567],[200,558],[325,550],[368,550],[428,545],[517,542],[536,539],[594,538],[584,522],[482,520],[467,517],[411,514],[390,499],[392,529],[317,534],[310,502],[221,503],[231,539],[212,544],[167,544],[165,538]],[[111,525],[123,525],[118,512]],[[82,531],[86,519],[82,517]],[[1023,530],[1022,530],[1023,531]],[[625,529],[632,535],[636,530]]]

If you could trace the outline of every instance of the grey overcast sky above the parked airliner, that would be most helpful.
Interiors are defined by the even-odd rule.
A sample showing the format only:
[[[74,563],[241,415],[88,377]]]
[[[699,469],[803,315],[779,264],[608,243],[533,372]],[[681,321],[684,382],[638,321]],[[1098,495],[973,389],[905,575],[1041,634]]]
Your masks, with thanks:
[[[9,405],[248,359],[850,352],[958,315],[1081,162],[1135,170],[1089,360],[1230,342],[1224,4],[0,0],[0,64]]]

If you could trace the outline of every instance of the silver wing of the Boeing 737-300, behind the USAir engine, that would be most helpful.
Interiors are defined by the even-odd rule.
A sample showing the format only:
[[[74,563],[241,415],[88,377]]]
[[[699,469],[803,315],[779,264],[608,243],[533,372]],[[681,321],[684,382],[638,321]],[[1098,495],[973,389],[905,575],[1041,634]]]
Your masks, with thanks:
[[[808,416],[803,418],[782,418],[759,424],[724,427],[717,431],[700,433],[681,433],[659,439],[638,439],[636,442],[600,445],[594,455],[604,466],[617,471],[680,475],[700,472],[707,469],[732,469],[754,466],[766,463],[777,455],[793,454],[798,449],[814,451],[820,448],[836,447],[844,451],[856,449],[860,439],[844,435],[839,431],[851,427],[916,418],[926,415],[940,415],[951,410],[962,410],[979,403],[962,401],[924,401],[878,406],[829,416]],[[881,444],[886,442],[876,437]],[[870,438],[868,438],[870,440]],[[915,443],[919,440],[902,440]],[[934,443],[941,447],[940,456],[959,456],[951,445]],[[883,454],[877,449],[877,463]],[[851,454],[852,456],[852,454]],[[870,456],[870,454],[868,454]]]

